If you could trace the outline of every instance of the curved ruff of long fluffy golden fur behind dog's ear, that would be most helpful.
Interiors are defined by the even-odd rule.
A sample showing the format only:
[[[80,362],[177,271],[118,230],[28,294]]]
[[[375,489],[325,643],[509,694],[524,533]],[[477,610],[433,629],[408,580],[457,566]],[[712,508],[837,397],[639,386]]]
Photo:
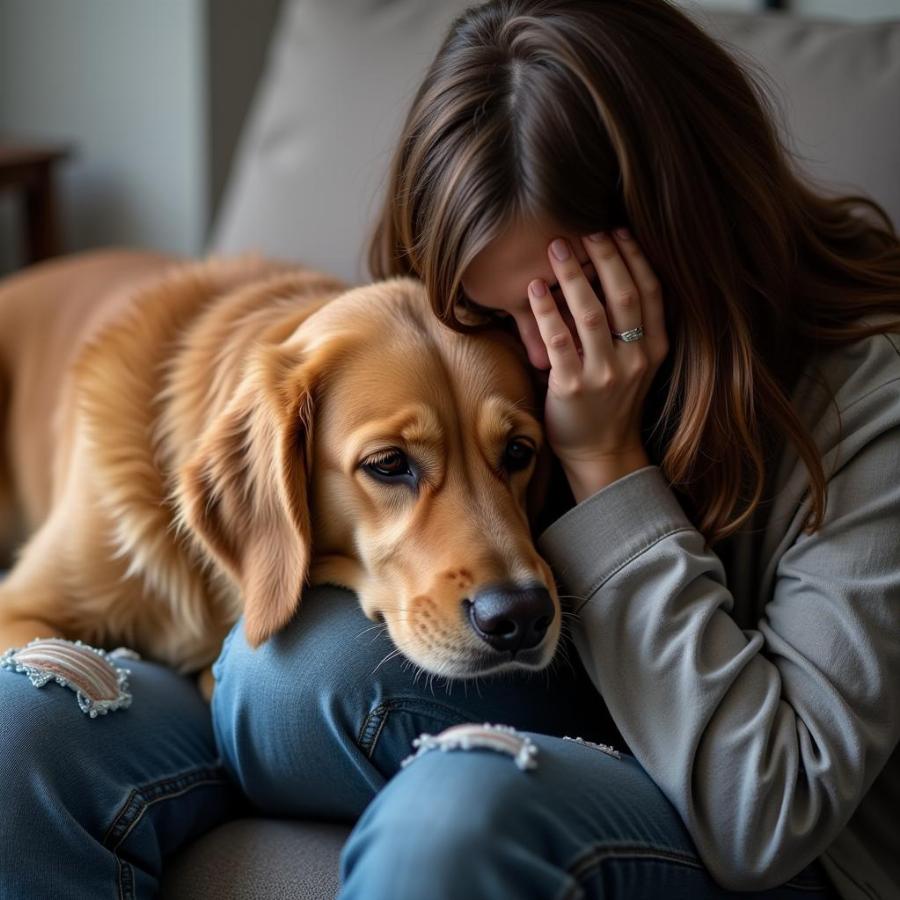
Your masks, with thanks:
[[[129,574],[171,595],[188,628],[202,630],[210,583],[172,528],[178,454],[164,444],[173,416],[181,422],[176,436],[196,434],[201,404],[238,377],[231,360],[240,349],[229,341],[236,346],[248,332],[272,328],[292,302],[304,306],[303,295],[342,288],[330,276],[255,254],[176,262],[120,298],[121,310],[75,359],[70,387],[84,464],[114,550],[128,559]]]

